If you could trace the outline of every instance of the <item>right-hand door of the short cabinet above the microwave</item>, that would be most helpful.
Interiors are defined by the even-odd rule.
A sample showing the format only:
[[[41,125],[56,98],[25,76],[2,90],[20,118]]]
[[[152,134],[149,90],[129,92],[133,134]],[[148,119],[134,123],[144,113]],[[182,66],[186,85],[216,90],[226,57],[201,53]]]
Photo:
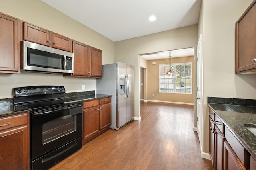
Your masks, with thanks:
[[[52,47],[64,51],[71,51],[71,39],[62,35],[52,33]]]

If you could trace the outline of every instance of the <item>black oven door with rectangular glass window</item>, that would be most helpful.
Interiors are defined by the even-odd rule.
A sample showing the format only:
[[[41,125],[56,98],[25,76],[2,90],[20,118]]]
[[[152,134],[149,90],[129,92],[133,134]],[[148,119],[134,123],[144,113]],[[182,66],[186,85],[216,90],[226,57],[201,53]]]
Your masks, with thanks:
[[[82,104],[52,110],[32,113],[30,119],[31,160],[82,135]]]

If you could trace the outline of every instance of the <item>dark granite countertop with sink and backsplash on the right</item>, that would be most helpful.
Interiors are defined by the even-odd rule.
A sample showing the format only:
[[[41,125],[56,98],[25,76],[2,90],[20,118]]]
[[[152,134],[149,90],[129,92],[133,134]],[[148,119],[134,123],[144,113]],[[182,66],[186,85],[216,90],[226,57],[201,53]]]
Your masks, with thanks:
[[[256,100],[244,101],[243,99],[238,99],[242,101],[242,103],[239,103],[230,102],[228,98],[225,98],[226,101],[221,101],[223,99],[216,98],[218,101],[216,102],[208,98],[208,106],[215,111],[224,125],[240,141],[244,148],[250,152],[252,157],[256,158],[256,135],[244,126],[247,123],[256,124]]]

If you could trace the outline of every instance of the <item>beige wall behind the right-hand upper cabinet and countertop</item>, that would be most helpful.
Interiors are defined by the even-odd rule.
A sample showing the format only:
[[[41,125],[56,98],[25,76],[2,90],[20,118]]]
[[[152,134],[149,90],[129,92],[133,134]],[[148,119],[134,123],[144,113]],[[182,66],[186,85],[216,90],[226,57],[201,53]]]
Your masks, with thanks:
[[[202,149],[208,153],[207,97],[256,99],[256,74],[235,74],[235,22],[253,0],[203,0],[198,37],[202,34]]]

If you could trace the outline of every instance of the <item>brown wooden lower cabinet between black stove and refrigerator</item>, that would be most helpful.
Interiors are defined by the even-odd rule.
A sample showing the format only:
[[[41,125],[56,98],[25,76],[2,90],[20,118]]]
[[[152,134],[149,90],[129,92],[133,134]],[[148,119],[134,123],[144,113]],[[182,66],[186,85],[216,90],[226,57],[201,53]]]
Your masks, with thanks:
[[[107,131],[110,124],[111,98],[102,98],[83,103],[83,144]]]

